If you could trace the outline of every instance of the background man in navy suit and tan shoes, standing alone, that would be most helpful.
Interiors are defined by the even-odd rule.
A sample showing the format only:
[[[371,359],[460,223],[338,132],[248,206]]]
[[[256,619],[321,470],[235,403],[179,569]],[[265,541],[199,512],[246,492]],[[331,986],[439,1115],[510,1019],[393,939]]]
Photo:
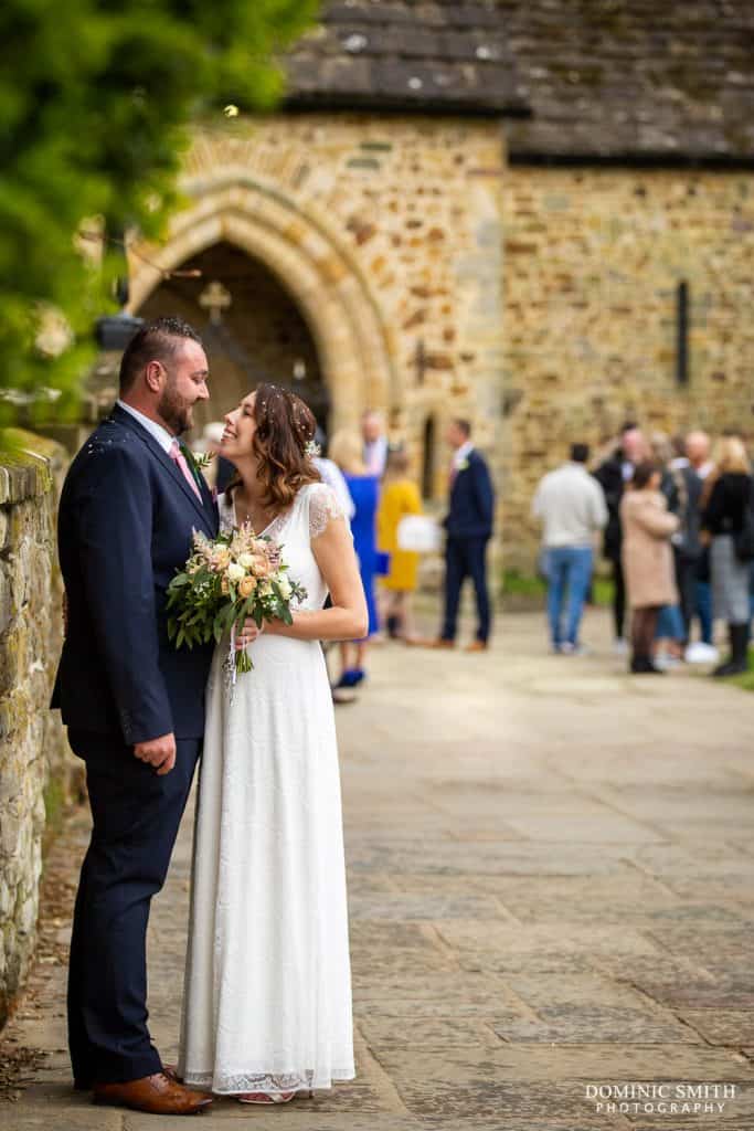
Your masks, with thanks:
[[[487,543],[492,536],[495,495],[489,469],[471,442],[471,425],[465,420],[450,424],[445,439],[453,449],[450,468],[450,509],[444,519],[445,542],[445,610],[442,632],[432,642],[435,648],[452,648],[466,578],[471,578],[477,603],[476,639],[467,651],[487,648],[491,628],[487,592]]]

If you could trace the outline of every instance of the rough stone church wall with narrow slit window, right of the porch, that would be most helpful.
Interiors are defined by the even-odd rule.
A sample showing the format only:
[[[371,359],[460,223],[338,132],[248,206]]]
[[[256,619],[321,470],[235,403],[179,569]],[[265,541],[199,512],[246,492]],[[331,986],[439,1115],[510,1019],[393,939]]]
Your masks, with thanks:
[[[604,446],[625,418],[649,432],[754,437],[754,178],[513,166],[503,225],[503,542],[506,563],[529,569],[531,494],[570,441]]]

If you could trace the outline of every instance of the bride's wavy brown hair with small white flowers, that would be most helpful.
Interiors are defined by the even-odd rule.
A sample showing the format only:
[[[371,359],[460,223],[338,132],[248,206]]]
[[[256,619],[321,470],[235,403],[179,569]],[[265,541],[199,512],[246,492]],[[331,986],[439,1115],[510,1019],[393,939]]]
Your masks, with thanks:
[[[321,482],[306,447],[317,431],[314,414],[295,392],[262,382],[255,389],[254,421],[251,447],[257,457],[257,478],[263,486],[262,503],[285,510],[301,487]],[[241,476],[236,475],[228,492],[240,484]]]

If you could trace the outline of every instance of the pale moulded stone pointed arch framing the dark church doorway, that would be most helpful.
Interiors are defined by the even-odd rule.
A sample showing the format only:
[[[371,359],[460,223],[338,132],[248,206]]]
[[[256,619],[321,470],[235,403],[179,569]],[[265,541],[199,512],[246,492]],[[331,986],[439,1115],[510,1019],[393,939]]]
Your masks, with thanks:
[[[248,175],[184,181],[192,204],[176,214],[164,244],[130,252],[129,310],[137,312],[164,278],[206,248],[227,241],[260,260],[306,319],[331,397],[331,426],[357,423],[367,407],[402,400],[395,347],[348,248],[324,217]]]

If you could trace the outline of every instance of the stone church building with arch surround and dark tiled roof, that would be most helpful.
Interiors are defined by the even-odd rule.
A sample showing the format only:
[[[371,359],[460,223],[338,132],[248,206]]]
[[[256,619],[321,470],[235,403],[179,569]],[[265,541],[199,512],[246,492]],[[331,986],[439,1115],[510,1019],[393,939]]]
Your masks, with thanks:
[[[570,441],[627,416],[754,433],[753,43],[744,0],[326,3],[279,113],[196,129],[189,206],[148,258],[225,242],[265,265],[330,425],[383,408],[437,500],[444,424],[470,416],[529,569],[531,493]],[[162,276],[131,276],[138,311]]]

